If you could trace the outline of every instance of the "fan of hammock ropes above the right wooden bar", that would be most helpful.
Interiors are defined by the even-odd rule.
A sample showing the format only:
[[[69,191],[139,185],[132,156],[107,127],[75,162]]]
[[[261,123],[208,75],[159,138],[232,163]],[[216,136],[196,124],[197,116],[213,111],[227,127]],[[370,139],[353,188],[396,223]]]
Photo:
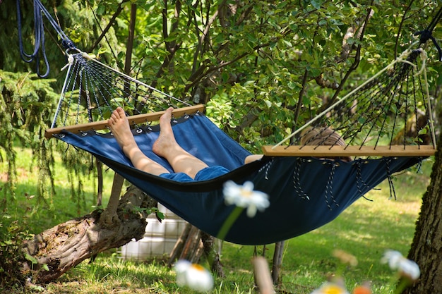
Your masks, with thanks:
[[[361,147],[364,145],[374,145],[374,149],[376,149],[381,140],[385,141],[383,139],[385,134],[390,135],[388,141],[391,147],[393,138],[398,133],[397,125],[400,124],[398,119],[401,116],[402,126],[405,128],[407,127],[407,118],[410,114],[417,116],[419,112],[424,112],[431,116],[429,94],[425,89],[422,89],[422,85],[427,84],[426,75],[424,75],[425,81],[422,82],[420,79],[421,75],[414,73],[417,68],[414,62],[416,62],[418,56],[422,58],[424,63],[426,54],[423,49],[406,50],[398,59],[285,137],[271,147],[271,149],[265,147],[265,154],[273,155],[273,150],[293,137],[295,138],[293,145],[301,145],[299,141],[301,139],[300,134],[303,131],[311,127],[318,128],[326,125],[331,125],[334,130],[341,133],[342,138],[347,140],[347,147],[351,145],[360,145]],[[417,88],[420,88],[421,91],[417,92]],[[409,97],[412,97],[410,104]],[[393,116],[391,113],[393,113]],[[331,116],[338,118],[340,121],[338,119],[333,121],[330,119]],[[429,119],[429,123],[431,123],[431,141],[435,148],[436,140],[432,118]],[[378,135],[374,135],[374,132]],[[356,134],[359,134],[359,136]],[[363,135],[362,138],[361,134]],[[295,137],[296,135],[298,137]],[[358,139],[360,142],[356,142]],[[369,141],[371,142],[369,143]],[[421,142],[417,140],[415,144],[420,146]],[[403,145],[407,145],[407,142],[404,141]],[[299,149],[305,147],[302,145]],[[332,149],[335,147],[338,146],[332,145],[328,148]],[[348,154],[351,154],[351,152]]]

